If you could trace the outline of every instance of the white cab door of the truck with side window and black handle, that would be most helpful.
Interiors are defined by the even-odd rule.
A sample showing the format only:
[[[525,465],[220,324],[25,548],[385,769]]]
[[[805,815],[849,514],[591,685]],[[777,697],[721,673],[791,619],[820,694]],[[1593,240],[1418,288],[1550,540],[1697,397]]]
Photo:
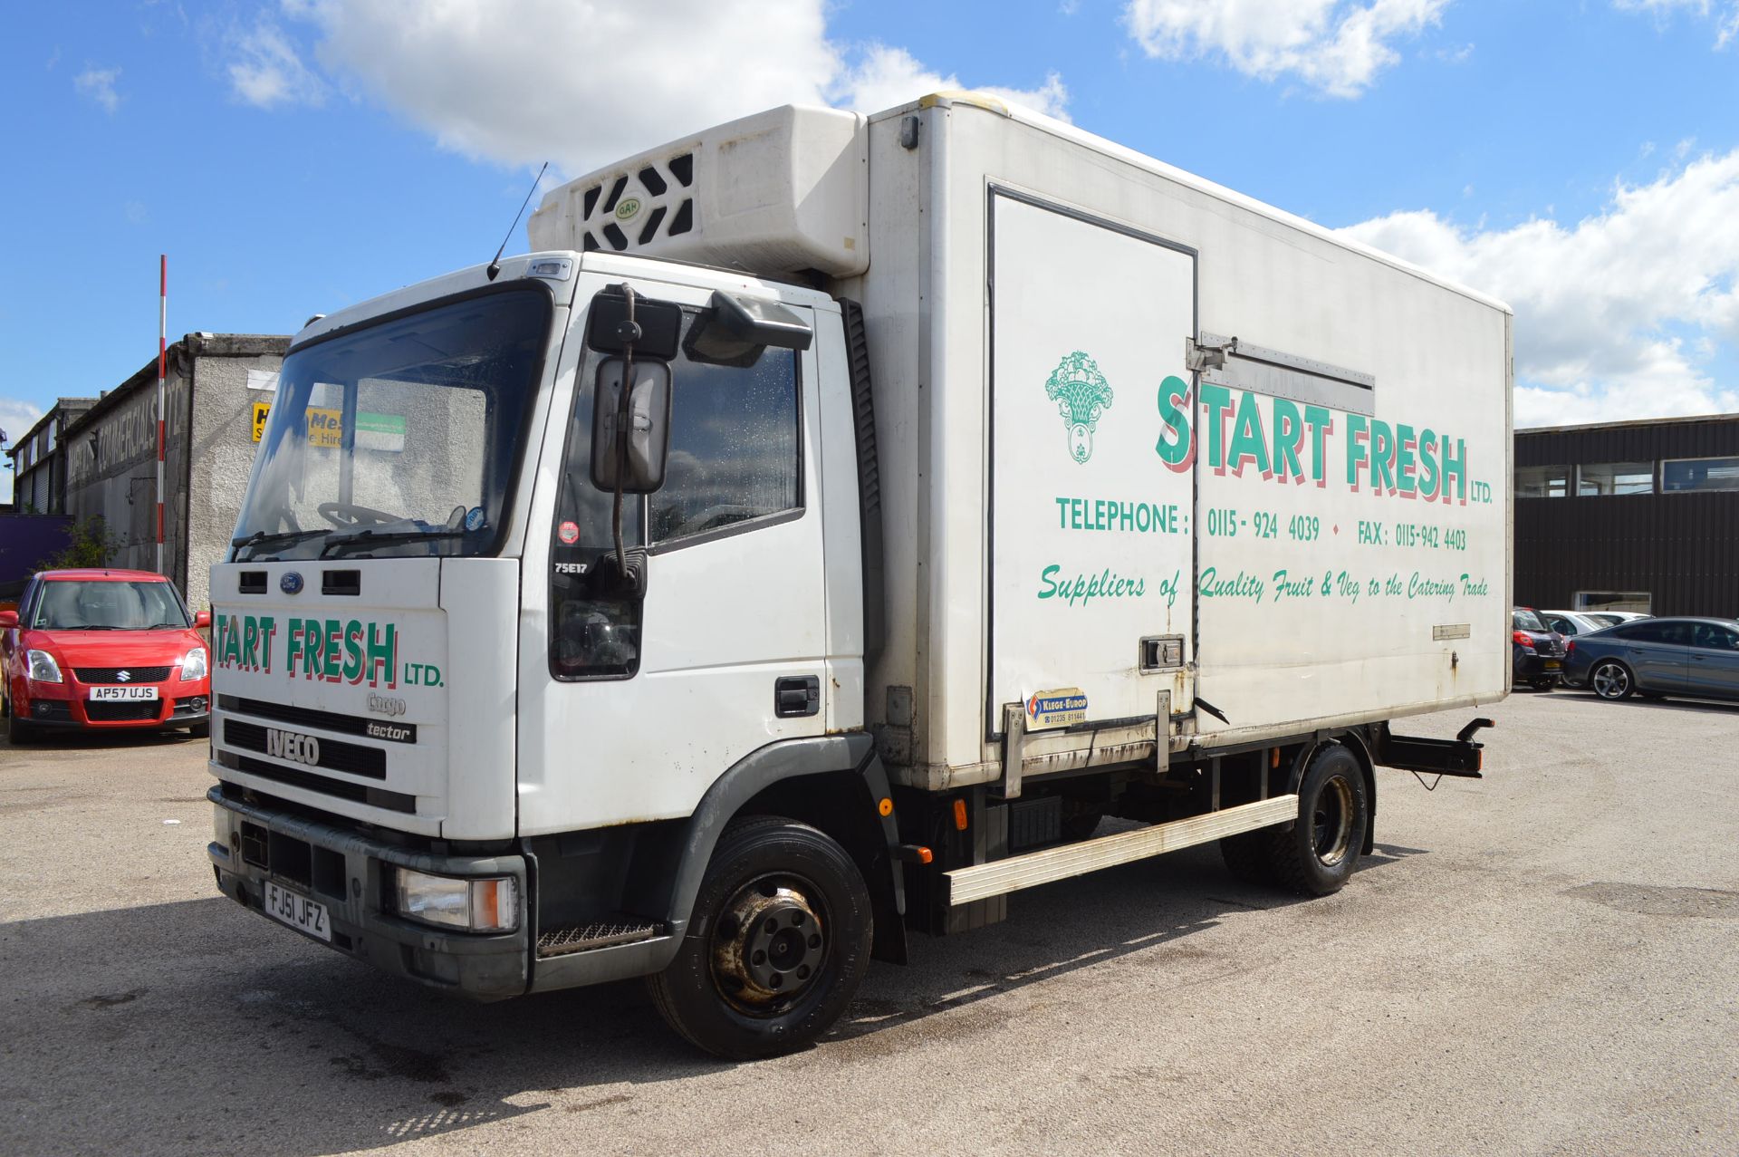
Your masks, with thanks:
[[[614,494],[591,482],[595,381],[584,306],[621,277],[579,285],[525,552],[520,832],[687,816],[713,779],[776,739],[821,734],[826,616],[816,348],[753,364],[671,360],[664,485],[624,498],[623,536],[645,545],[647,588],[600,581]],[[682,306],[682,338],[711,292],[635,282]],[[790,306],[814,325],[809,308]],[[737,358],[741,360],[741,358]],[[560,395],[558,395],[560,397]],[[802,694],[793,694],[802,692]],[[793,706],[793,703],[796,706]]]

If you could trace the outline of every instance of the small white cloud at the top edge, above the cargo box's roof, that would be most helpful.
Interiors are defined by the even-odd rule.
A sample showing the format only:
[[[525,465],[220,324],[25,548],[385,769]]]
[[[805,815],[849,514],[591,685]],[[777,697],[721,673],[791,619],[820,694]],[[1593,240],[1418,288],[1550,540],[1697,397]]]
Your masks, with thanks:
[[[1259,80],[1296,77],[1356,97],[1400,56],[1389,42],[1436,24],[1450,0],[1129,0],[1136,43],[1167,61],[1223,59]]]

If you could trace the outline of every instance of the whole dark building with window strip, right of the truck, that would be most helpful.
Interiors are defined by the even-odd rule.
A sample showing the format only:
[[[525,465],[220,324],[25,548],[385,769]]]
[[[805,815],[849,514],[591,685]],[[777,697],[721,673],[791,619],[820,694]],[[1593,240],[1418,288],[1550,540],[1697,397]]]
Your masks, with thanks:
[[[1739,414],[1518,430],[1515,599],[1739,616]]]

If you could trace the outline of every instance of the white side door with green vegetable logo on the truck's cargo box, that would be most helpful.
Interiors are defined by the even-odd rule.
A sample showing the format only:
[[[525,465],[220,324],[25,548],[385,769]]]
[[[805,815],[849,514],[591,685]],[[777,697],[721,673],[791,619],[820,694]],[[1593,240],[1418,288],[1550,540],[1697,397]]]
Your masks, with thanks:
[[[991,592],[986,731],[1191,708],[1195,252],[991,191]],[[1063,692],[1063,694],[1047,694]],[[1061,710],[1050,710],[1061,708]]]

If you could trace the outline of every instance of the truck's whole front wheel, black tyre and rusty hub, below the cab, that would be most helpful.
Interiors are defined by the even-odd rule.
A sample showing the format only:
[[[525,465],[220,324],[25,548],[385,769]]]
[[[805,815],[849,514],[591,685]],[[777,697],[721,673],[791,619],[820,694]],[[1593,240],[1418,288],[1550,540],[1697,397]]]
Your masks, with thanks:
[[[649,978],[652,1000],[690,1044],[734,1061],[793,1053],[831,1028],[875,938],[850,854],[779,816],[725,828],[689,927],[671,966]]]

